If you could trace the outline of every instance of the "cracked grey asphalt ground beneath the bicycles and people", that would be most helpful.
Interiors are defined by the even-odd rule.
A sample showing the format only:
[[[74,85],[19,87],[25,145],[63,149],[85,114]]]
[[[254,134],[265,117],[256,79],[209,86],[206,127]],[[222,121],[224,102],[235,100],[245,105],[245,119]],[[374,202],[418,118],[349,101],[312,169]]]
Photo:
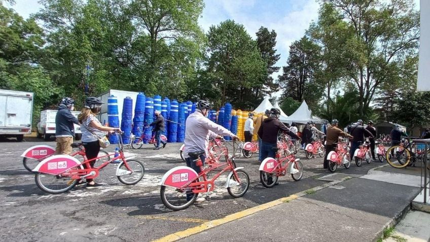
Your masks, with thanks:
[[[380,225],[384,220],[380,217],[387,218],[387,220],[392,217],[392,214],[389,213],[390,205],[382,203],[387,206],[387,211],[379,209],[382,206],[381,197],[388,197],[388,200],[392,201],[390,204],[393,207],[404,210],[401,207],[413,194],[417,193],[416,188],[402,185],[396,185],[398,186],[396,188],[392,188],[391,185],[384,187],[386,182],[357,178],[367,175],[370,169],[380,166],[379,162],[364,163],[362,167],[356,167],[352,163],[349,169],[338,168],[336,176],[332,176],[330,171],[322,169],[322,158],[307,160],[300,151],[297,156],[301,158],[304,165],[304,176],[299,182],[295,182],[291,176],[285,176],[279,179],[278,186],[266,189],[260,183],[258,171],[260,163],[257,161],[257,155],[249,159],[236,158],[237,166],[244,166],[251,180],[250,188],[243,197],[233,198],[228,194],[224,188],[228,174],[223,174],[215,184],[216,189],[210,194],[211,200],[197,203],[183,211],[172,212],[161,202],[158,182],[170,168],[185,164],[179,155],[179,148],[182,144],[169,143],[165,149],[158,151],[153,150],[153,145],[149,144],[139,150],[126,150],[126,156],[134,157],[145,165],[144,179],[136,185],[125,186],[120,183],[115,176],[116,165],[110,164],[101,170],[99,178],[96,179],[97,182],[104,184],[102,188],[92,190],[74,188],[69,192],[57,195],[46,194],[35,185],[34,175],[23,167],[20,157],[25,149],[33,145],[55,146],[55,142],[27,138],[27,141],[23,143],[3,140],[0,144],[2,151],[0,162],[3,164],[3,168],[0,169],[0,219],[5,225],[0,228],[0,235],[4,241],[150,241],[212,220],[223,219],[228,215],[246,211],[298,192],[324,186],[331,181],[345,177],[353,178],[340,183],[340,186],[344,187],[343,189],[325,188],[315,194],[307,194],[280,206],[274,206],[252,216],[193,235],[187,240],[208,241],[210,238],[210,240],[231,241],[234,238],[247,238],[246,240],[249,241],[259,241],[261,238],[261,240],[272,241],[292,238],[286,236],[287,228],[285,226],[287,225],[288,229],[297,233],[297,231],[303,231],[305,228],[303,225],[309,224],[310,221],[324,224],[322,218],[327,216],[336,218],[333,216],[336,213],[330,212],[329,209],[327,209],[327,213],[316,211],[312,213],[313,209],[321,208],[321,204],[329,204],[335,206],[336,209],[362,211],[366,214],[363,214],[361,219],[367,218],[367,215],[375,215],[375,219],[370,219],[372,220],[370,224],[375,227],[376,231],[382,229]],[[113,152],[114,149],[111,146],[107,151]],[[362,184],[363,181],[371,182]],[[375,188],[380,189],[374,190]],[[392,196],[393,193],[398,196]],[[353,215],[351,214],[352,217]],[[261,218],[257,216],[261,216]],[[289,216],[294,216],[292,221],[297,221],[297,223],[286,223],[284,220],[289,220]],[[344,218],[348,218],[348,216]],[[339,223],[339,221],[335,222]],[[356,222],[354,220],[351,223]],[[366,221],[363,224],[366,224]],[[270,230],[257,236],[256,233],[259,229],[267,227],[276,227],[282,236],[275,236],[279,233],[268,233]],[[352,227],[356,228],[356,226]],[[296,230],[294,230],[295,228]],[[297,230],[298,228],[301,229]],[[308,230],[305,232],[322,236],[319,230],[313,231],[312,228],[306,228]],[[326,231],[337,228],[335,223],[326,228],[320,226],[321,230]],[[362,231],[367,231],[367,227],[363,229]],[[220,233],[220,231],[223,232]],[[338,230],[339,238],[344,232],[344,230]],[[373,230],[367,232],[375,235]],[[209,237],[205,237],[209,234]],[[215,236],[215,234],[218,235]],[[366,239],[352,241],[368,241]],[[294,240],[334,241],[333,239],[322,239],[322,237],[318,239],[318,237],[310,235],[301,235]]]

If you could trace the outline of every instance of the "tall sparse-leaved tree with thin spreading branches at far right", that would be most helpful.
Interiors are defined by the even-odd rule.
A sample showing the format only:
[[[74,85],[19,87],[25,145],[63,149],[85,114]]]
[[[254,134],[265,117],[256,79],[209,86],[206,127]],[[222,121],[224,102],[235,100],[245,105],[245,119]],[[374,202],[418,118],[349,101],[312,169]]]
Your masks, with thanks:
[[[351,60],[348,79],[359,91],[359,114],[364,115],[376,91],[390,82],[398,60],[416,53],[419,42],[419,13],[411,0],[324,0],[353,28],[343,54]]]

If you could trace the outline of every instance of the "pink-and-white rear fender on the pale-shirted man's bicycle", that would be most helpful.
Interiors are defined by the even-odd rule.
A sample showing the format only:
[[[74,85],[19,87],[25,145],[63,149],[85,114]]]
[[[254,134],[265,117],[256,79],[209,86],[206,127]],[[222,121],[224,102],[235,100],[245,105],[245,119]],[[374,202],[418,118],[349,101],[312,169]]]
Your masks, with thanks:
[[[158,185],[180,188],[198,176],[197,172],[188,166],[176,166],[164,174]]]

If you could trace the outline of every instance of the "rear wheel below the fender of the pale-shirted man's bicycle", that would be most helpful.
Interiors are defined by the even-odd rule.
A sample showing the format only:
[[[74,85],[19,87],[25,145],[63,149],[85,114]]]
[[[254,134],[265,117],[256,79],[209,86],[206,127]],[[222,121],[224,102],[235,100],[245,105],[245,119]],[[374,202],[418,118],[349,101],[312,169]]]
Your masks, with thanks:
[[[197,179],[195,182],[198,181],[199,179]],[[181,191],[181,189],[174,187],[161,186],[161,201],[168,209],[174,211],[184,210],[193,204],[198,196],[198,193],[193,193],[191,188],[188,189],[188,192],[191,193],[191,195],[187,201],[187,191]]]

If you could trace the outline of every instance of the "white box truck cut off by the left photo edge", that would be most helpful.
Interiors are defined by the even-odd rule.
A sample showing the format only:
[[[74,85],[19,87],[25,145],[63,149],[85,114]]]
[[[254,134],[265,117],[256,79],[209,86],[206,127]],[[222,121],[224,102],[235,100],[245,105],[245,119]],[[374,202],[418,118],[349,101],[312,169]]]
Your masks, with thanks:
[[[16,137],[31,133],[33,114],[32,92],[0,90],[0,137]]]

